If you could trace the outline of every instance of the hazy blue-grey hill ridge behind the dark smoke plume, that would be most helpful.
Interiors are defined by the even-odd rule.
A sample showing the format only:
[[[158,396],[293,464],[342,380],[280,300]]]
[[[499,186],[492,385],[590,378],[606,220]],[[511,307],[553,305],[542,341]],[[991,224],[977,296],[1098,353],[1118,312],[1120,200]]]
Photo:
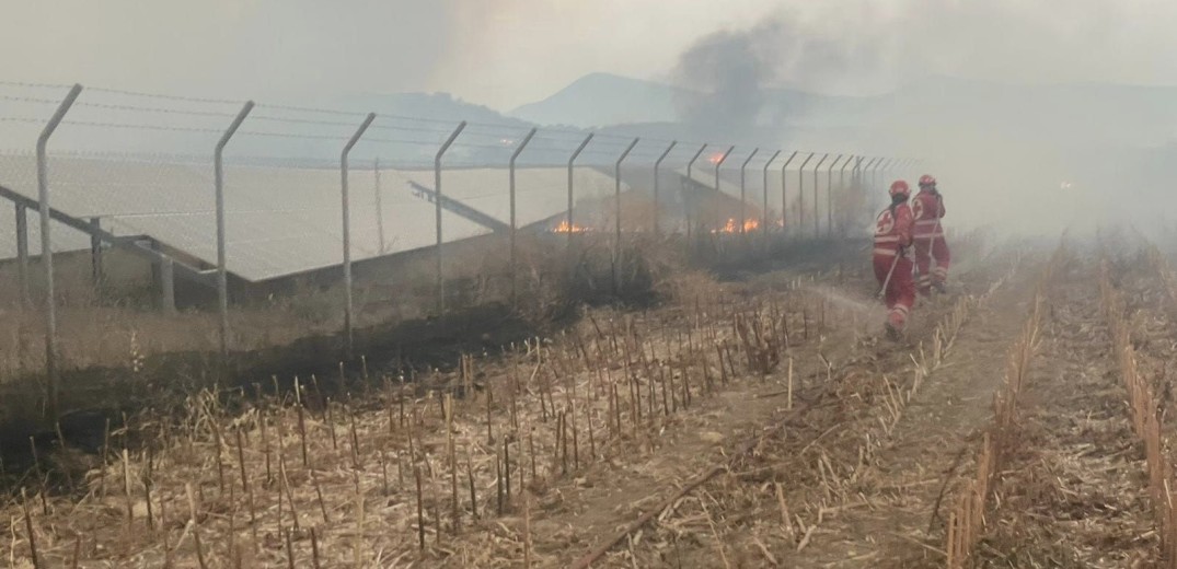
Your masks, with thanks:
[[[593,73],[508,116],[538,125],[571,125],[607,132],[696,140],[714,138],[681,123],[687,89]],[[912,142],[944,143],[944,136],[1012,136],[1029,143],[1148,146],[1177,135],[1177,88],[1106,83],[1006,85],[929,76],[893,93],[840,96],[798,89],[762,92],[756,132],[747,143],[892,146],[915,132]],[[920,129],[924,132],[920,133]],[[937,134],[939,133],[939,140]]]

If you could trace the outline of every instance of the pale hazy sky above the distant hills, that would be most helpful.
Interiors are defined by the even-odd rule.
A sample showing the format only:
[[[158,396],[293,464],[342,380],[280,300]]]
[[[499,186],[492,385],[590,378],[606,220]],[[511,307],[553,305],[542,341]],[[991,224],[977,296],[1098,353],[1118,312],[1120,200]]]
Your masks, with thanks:
[[[231,98],[448,91],[510,109],[590,72],[669,80],[718,31],[784,22],[780,83],[927,73],[1177,82],[1171,0],[0,0],[0,78]],[[777,41],[777,40],[773,40]],[[829,68],[830,71],[825,71]]]

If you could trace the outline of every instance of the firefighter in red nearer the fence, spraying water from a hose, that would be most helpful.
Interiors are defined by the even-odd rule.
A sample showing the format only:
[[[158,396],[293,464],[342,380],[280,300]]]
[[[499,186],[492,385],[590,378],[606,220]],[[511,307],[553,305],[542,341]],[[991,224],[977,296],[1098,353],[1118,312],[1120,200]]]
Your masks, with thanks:
[[[887,337],[892,340],[902,335],[907,313],[916,302],[911,259],[913,217],[907,207],[910,195],[907,182],[896,180],[891,183],[891,206],[879,213],[875,222],[875,277],[890,310],[885,327]]]

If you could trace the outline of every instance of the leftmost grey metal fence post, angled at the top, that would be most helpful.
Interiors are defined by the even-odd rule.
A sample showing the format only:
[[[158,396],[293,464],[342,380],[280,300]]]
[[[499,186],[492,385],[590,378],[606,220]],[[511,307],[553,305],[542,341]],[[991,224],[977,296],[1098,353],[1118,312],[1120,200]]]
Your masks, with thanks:
[[[53,240],[49,227],[49,180],[46,147],[49,136],[56,130],[58,125],[65,119],[69,107],[81,94],[81,85],[74,83],[69,93],[58,105],[49,122],[45,125],[40,136],[36,138],[36,198],[38,209],[41,221],[41,262],[45,265],[45,368],[49,383],[49,414],[54,421],[58,419],[60,377],[58,376],[58,314],[56,299],[53,290]]]

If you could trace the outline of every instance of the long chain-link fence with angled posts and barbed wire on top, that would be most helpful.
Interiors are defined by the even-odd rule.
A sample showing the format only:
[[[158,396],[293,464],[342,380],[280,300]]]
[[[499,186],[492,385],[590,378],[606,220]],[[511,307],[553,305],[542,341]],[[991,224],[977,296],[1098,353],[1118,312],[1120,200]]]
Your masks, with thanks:
[[[0,373],[51,386],[526,309],[590,255],[616,290],[639,243],[857,234],[915,163],[79,86],[0,82]]]

